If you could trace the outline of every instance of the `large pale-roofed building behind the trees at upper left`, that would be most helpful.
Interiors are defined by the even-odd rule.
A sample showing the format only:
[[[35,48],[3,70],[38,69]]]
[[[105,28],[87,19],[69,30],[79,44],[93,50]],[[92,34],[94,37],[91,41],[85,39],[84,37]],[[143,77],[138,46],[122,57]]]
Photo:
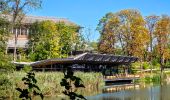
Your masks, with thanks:
[[[12,17],[8,15],[1,15],[1,17],[5,17],[9,21],[12,21]],[[59,22],[64,22],[67,25],[77,25],[71,21],[69,21],[66,18],[55,18],[55,17],[42,17],[42,16],[25,16],[22,21],[21,21],[21,26],[19,28],[14,28],[11,29],[11,33],[13,34],[10,39],[8,40],[7,43],[7,48],[9,53],[14,52],[14,47],[15,47],[15,34],[17,35],[17,44],[16,48],[23,48],[27,49],[28,45],[28,34],[31,31],[30,30],[30,25],[35,23],[35,22],[41,22],[41,21],[46,21],[46,20],[51,20],[56,23]]]

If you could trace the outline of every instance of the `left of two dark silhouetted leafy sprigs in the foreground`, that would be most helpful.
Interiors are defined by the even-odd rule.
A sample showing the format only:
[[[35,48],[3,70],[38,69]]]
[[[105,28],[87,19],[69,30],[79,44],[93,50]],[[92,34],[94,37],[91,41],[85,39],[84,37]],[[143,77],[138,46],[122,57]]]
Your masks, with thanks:
[[[28,72],[26,77],[22,78],[22,81],[27,86],[25,89],[16,88],[20,92],[19,98],[32,100],[33,96],[40,96],[41,99],[44,98],[37,86],[37,80],[35,79],[35,74],[33,72]]]

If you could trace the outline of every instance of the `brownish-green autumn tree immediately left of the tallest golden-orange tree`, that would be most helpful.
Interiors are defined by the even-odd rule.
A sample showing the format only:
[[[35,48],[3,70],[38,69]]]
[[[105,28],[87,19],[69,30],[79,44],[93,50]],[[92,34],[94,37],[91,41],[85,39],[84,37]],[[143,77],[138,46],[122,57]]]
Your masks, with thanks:
[[[101,37],[98,43],[98,51],[101,53],[114,54],[117,27],[119,25],[118,17],[113,13],[107,13],[97,26]]]

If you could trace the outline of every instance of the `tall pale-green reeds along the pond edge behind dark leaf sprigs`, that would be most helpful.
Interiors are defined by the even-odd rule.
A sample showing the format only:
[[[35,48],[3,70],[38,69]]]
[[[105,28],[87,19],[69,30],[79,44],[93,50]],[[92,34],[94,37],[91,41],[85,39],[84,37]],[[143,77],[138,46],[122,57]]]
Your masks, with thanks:
[[[61,72],[36,72],[38,86],[45,96],[59,96],[62,94],[63,87],[60,86],[60,81],[63,78]],[[13,72],[0,75],[0,98],[18,97],[16,87],[24,87],[22,77],[26,73]],[[100,87],[104,86],[101,73],[83,73],[75,72],[75,75],[80,77],[85,85],[85,89],[78,90],[83,95],[95,95],[99,92]],[[94,92],[95,91],[95,92]]]

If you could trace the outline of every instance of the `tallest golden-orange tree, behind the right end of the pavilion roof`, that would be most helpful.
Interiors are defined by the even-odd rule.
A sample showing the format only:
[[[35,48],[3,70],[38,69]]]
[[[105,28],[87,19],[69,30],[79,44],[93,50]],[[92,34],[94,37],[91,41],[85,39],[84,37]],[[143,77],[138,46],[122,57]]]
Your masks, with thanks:
[[[120,18],[119,34],[125,54],[142,57],[148,42],[145,21],[137,10],[122,10],[118,12]]]

